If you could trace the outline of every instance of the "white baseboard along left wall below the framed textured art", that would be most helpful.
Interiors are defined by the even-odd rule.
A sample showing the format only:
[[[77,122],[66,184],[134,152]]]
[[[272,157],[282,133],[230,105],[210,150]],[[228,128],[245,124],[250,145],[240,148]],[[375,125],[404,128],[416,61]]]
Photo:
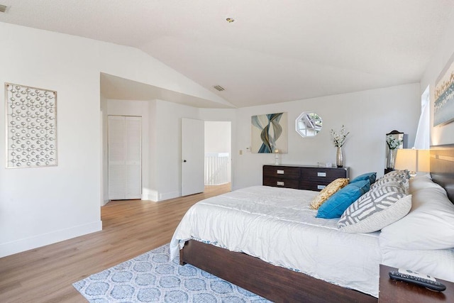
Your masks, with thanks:
[[[71,228],[61,229],[59,231],[52,231],[50,233],[43,233],[31,238],[23,238],[17,241],[0,244],[0,258],[6,255],[13,255],[15,253],[22,253],[26,250],[46,246],[49,244],[65,241],[70,238],[84,236],[87,233],[94,233],[95,231],[102,230],[102,221],[96,221],[89,224],[74,226]]]

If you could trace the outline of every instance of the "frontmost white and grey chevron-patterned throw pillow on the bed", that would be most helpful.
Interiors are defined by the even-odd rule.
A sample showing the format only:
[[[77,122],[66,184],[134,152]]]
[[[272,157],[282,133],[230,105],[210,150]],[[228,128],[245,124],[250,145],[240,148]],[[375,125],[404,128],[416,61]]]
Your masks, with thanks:
[[[389,182],[363,194],[338,221],[341,231],[371,233],[402,219],[411,209],[411,195],[397,182]]]

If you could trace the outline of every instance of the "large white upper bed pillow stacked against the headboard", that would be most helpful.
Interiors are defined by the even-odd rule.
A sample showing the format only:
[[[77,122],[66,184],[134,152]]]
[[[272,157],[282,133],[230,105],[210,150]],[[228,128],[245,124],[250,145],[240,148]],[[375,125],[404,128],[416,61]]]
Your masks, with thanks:
[[[454,248],[454,204],[441,187],[412,194],[409,214],[382,228],[380,248],[433,250]]]

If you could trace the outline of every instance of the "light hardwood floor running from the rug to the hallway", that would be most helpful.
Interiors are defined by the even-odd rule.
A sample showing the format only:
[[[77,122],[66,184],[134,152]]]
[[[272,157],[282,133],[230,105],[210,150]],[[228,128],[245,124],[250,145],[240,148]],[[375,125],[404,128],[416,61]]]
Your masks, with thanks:
[[[114,201],[101,207],[103,230],[0,258],[0,302],[87,302],[72,283],[169,243],[190,206],[230,184],[165,202]]]

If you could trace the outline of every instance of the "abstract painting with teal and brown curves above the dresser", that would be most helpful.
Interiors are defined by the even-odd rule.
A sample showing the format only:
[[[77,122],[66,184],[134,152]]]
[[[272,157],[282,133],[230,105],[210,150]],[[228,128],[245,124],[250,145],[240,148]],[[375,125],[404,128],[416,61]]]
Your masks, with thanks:
[[[251,152],[287,153],[287,120],[287,113],[252,116]]]

